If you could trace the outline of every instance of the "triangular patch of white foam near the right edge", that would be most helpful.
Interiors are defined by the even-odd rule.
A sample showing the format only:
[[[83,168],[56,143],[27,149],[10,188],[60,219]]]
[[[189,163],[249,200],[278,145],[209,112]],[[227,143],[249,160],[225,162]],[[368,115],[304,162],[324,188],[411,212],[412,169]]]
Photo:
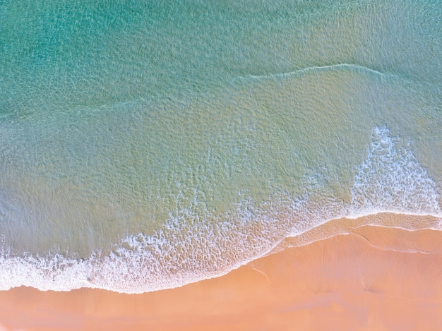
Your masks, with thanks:
[[[375,128],[368,157],[357,169],[350,217],[378,212],[441,215],[436,182],[410,148],[391,138],[387,128]]]

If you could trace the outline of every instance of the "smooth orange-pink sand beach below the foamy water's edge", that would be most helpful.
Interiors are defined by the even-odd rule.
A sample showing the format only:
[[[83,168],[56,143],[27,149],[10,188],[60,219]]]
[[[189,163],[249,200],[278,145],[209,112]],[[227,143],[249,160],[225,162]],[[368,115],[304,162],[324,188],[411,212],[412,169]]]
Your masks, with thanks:
[[[377,217],[378,224],[390,226],[401,220],[415,228],[438,222]],[[178,289],[138,295],[0,291],[0,325],[5,330],[442,330],[442,231],[362,225],[367,221],[376,223],[367,217],[329,222],[285,242],[297,247]]]

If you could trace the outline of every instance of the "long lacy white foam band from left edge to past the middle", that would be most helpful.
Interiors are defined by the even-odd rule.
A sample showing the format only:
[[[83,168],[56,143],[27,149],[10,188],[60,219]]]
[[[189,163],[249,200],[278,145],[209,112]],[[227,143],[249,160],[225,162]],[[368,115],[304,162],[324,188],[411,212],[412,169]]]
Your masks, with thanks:
[[[0,289],[20,285],[41,290],[68,291],[92,287],[142,293],[179,287],[201,279],[224,275],[246,259],[270,251],[285,236],[285,219],[277,219],[279,207],[266,203],[255,207],[242,201],[238,210],[216,219],[203,219],[184,210],[167,220],[153,236],[128,236],[110,254],[93,253],[86,260],[13,256],[0,258]]]

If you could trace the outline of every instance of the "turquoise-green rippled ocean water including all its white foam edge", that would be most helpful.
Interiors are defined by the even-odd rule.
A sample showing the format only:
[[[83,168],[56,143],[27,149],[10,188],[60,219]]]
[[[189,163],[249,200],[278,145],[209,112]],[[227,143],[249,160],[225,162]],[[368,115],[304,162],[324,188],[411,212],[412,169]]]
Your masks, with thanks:
[[[441,1],[0,1],[0,289],[154,291],[330,219],[442,219],[441,54]]]

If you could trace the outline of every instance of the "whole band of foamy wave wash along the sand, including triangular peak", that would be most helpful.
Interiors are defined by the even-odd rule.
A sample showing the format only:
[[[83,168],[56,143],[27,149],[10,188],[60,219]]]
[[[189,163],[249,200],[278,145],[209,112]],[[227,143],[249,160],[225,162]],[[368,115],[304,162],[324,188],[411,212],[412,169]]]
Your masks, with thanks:
[[[368,154],[355,169],[351,193],[350,203],[332,200],[322,205],[309,193],[302,197],[281,193],[261,204],[245,198],[236,210],[222,215],[209,210],[196,213],[191,205],[170,215],[155,234],[127,236],[85,259],[61,253],[18,256],[4,243],[0,286],[141,293],[224,275],[290,238],[302,244],[346,231],[343,217],[359,219],[356,226],[442,229],[437,183],[417,162],[410,146],[392,138],[386,128],[374,129]],[[404,217],[389,220],[376,216],[379,212]],[[329,225],[328,231],[321,229],[323,224]]]

